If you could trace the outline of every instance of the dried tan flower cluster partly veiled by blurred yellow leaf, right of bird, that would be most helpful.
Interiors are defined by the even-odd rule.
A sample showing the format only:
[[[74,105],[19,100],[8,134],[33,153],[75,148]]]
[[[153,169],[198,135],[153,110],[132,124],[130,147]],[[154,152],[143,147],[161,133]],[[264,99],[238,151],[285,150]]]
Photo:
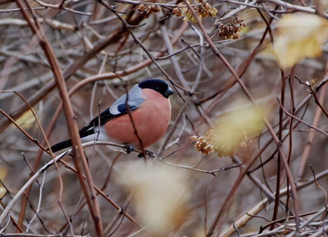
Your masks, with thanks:
[[[215,134],[211,129],[208,130],[203,136],[192,136],[192,141],[195,141],[195,149],[202,154],[209,155],[214,151],[217,152],[218,157],[233,156],[238,150],[247,147],[246,131],[242,130],[234,134],[234,140],[227,142],[223,136]]]

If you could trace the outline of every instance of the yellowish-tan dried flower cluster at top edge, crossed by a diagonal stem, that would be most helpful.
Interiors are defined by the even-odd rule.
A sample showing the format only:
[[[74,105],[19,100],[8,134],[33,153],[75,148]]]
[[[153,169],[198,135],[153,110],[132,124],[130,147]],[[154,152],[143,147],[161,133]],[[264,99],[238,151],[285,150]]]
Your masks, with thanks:
[[[197,6],[193,7],[195,9],[195,11],[197,11],[198,16],[200,18],[207,17],[207,16],[214,17],[217,13],[217,10],[214,7],[211,7],[205,0],[195,0],[193,2],[191,2],[191,0],[188,0],[188,2],[190,2],[191,4],[201,3],[201,5],[197,5]],[[178,4],[178,6],[183,6],[183,5],[185,5],[185,4],[184,3]],[[188,7],[181,7],[181,8],[176,7],[173,9],[173,12],[176,17],[185,15],[183,20],[188,19],[191,22],[194,22],[194,23],[196,22],[196,19],[195,19],[193,13],[190,11],[190,9]]]

